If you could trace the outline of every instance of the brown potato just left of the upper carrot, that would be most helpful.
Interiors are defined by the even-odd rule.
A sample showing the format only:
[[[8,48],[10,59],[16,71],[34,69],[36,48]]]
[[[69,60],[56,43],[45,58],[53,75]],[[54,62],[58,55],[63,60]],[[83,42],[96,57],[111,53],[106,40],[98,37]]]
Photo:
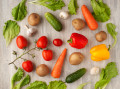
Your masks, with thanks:
[[[85,27],[85,22],[82,19],[77,18],[72,21],[72,25],[76,30],[82,30]]]

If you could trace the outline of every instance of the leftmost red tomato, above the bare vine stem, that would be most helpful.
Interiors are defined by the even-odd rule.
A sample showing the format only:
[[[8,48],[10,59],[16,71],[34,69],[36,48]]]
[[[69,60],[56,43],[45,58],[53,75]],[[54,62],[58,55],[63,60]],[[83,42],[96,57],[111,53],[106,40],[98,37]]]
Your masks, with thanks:
[[[23,36],[18,36],[16,39],[16,44],[18,46],[18,48],[23,49],[25,47],[27,47],[28,42],[26,40],[26,38],[24,38]]]

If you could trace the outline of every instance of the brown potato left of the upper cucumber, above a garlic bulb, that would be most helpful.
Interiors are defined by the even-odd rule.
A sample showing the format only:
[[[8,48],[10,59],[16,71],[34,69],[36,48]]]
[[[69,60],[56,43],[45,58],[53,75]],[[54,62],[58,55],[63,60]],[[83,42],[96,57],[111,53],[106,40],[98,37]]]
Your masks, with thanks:
[[[32,26],[36,26],[40,23],[40,16],[37,13],[32,13],[28,17],[28,23]]]

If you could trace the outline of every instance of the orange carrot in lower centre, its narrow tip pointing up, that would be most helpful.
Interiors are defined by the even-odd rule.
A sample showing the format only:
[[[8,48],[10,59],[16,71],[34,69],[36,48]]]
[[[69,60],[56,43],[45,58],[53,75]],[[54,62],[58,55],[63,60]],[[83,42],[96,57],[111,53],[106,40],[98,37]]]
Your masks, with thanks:
[[[52,70],[51,76],[54,78],[60,78],[63,62],[64,62],[64,59],[66,56],[66,51],[67,51],[67,49],[65,48],[63,50],[63,52],[61,53],[61,55],[59,56],[55,66]]]

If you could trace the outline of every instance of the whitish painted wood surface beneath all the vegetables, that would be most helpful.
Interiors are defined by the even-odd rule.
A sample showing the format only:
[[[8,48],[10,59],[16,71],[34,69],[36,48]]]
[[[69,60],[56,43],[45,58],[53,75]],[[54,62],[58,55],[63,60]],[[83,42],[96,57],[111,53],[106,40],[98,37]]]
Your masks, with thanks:
[[[15,50],[17,51],[19,54],[21,54],[23,51],[18,49],[16,46],[16,42],[15,39],[11,42],[11,44],[6,47],[5,44],[5,40],[3,38],[2,35],[2,30],[3,30],[3,26],[4,26],[4,22],[6,22],[9,19],[13,19],[12,15],[11,15],[11,10],[13,7],[15,7],[21,0],[0,0],[0,89],[9,89],[10,88],[10,78],[13,75],[13,73],[15,72],[15,69],[13,67],[13,65],[8,66],[8,63],[11,62],[15,57],[12,55],[12,51]],[[69,0],[64,0],[66,3],[66,7],[64,7],[62,10],[67,10],[67,5]],[[72,83],[72,84],[67,84],[67,89],[76,89],[76,87],[84,82],[91,82],[91,84],[88,84],[85,89],[94,89],[94,84],[96,81],[99,80],[99,75],[97,76],[91,76],[90,75],[90,68],[93,66],[98,66],[100,68],[105,67],[105,65],[111,61],[115,61],[117,62],[117,66],[118,69],[120,71],[120,0],[103,0],[105,3],[107,3],[110,8],[111,8],[111,19],[108,22],[112,22],[117,26],[117,31],[118,31],[118,42],[117,45],[115,46],[115,48],[113,48],[110,53],[111,53],[111,58],[109,60],[106,61],[101,61],[101,62],[94,62],[91,61],[90,59],[90,53],[89,50],[91,47],[93,47],[94,45],[98,45],[101,44],[99,42],[97,42],[95,40],[95,33],[104,30],[107,32],[106,29],[106,23],[99,23],[99,28],[96,31],[91,31],[89,30],[88,27],[86,27],[84,30],[81,31],[76,31],[72,25],[71,22],[73,19],[75,18],[83,18],[81,9],[78,9],[78,13],[77,15],[73,15],[71,16],[68,20],[62,20],[58,17],[58,14],[60,13],[60,10],[58,11],[51,11],[43,6],[36,6],[36,5],[32,5],[32,4],[28,4],[27,3],[27,11],[28,14],[26,16],[26,18],[23,21],[18,22],[18,24],[21,27],[21,32],[20,35],[25,36],[29,42],[30,42],[30,46],[29,48],[32,48],[34,46],[33,41],[35,39],[38,39],[40,36],[47,36],[49,39],[49,46],[48,48],[54,51],[54,58],[52,61],[50,62],[46,62],[43,60],[41,52],[42,51],[33,51],[32,53],[35,53],[36,57],[35,59],[32,59],[31,56],[26,55],[25,58],[32,60],[35,64],[35,66],[38,66],[42,63],[45,63],[49,66],[50,69],[53,68],[57,58],[59,57],[60,53],[62,52],[62,50],[66,47],[68,49],[67,51],[67,56],[64,62],[64,66],[63,66],[63,70],[62,70],[62,75],[60,77],[60,79],[57,80],[65,80],[65,77],[76,71],[79,68],[85,67],[87,68],[87,73],[85,74],[85,76],[83,76],[81,79],[79,79],[78,81]],[[78,5],[79,7],[81,7],[83,4],[87,5],[88,8],[92,11],[91,5],[90,5],[90,0],[78,0]],[[27,22],[27,17],[29,14],[31,13],[38,13],[40,14],[42,20],[41,23],[36,26],[36,28],[38,29],[38,34],[34,37],[28,38],[26,36],[26,29],[24,28],[25,24],[28,24]],[[44,18],[44,13],[45,12],[51,12],[53,13],[57,18],[59,18],[59,20],[62,22],[64,29],[61,32],[56,32],[51,26],[50,24],[46,21],[46,19]],[[83,18],[84,19],[84,18]],[[71,33],[73,32],[77,32],[77,33],[81,33],[83,35],[85,35],[88,40],[89,43],[88,45],[81,50],[78,49],[74,49],[71,48],[69,46],[69,44],[66,42],[67,39],[69,39]],[[52,40],[54,38],[61,38],[64,41],[64,44],[61,47],[55,47],[52,44]],[[110,35],[108,35],[108,38],[106,41],[102,42],[105,43],[107,45],[111,44],[113,42],[113,39],[111,38]],[[78,66],[71,66],[69,64],[69,55],[72,52],[81,52],[85,55],[85,60]],[[18,67],[21,67],[21,63],[23,61],[22,60],[18,60],[16,61],[16,64]],[[120,73],[120,72],[119,72]],[[27,73],[26,73],[27,74]],[[39,77],[36,75],[35,71],[28,73],[31,76],[31,82],[35,81],[35,80],[40,80],[40,81],[46,81],[47,83],[49,81],[52,80],[56,80],[54,78],[52,78],[50,75],[46,76],[46,77]],[[112,79],[112,81],[109,83],[109,85],[107,86],[106,89],[120,89],[120,75],[118,75],[116,78]],[[25,89],[25,87],[23,88]]]

